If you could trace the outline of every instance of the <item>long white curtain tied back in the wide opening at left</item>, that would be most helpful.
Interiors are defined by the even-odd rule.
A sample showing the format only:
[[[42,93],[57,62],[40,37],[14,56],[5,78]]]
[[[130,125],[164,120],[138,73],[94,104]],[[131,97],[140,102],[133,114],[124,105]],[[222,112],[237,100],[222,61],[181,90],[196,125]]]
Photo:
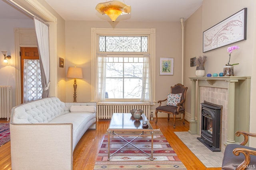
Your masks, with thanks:
[[[43,94],[42,98],[49,97],[50,85],[50,58],[49,58],[49,24],[34,16],[36,39],[38,44],[39,59],[41,65],[41,76]]]

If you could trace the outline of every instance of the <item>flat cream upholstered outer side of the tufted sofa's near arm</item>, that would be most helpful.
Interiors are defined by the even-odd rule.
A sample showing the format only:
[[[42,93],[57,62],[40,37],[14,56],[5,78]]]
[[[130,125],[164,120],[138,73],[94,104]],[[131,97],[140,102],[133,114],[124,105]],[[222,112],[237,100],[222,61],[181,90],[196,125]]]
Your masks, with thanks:
[[[71,170],[72,123],[10,123],[12,169]]]

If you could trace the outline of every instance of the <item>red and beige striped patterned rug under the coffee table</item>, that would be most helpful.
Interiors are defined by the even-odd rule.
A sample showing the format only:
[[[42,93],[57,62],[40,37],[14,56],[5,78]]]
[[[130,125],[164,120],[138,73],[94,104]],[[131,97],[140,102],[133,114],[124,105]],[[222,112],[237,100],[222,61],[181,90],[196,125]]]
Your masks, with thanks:
[[[122,137],[127,141],[133,139],[133,137],[128,137],[128,135]],[[117,136],[114,136],[110,140],[110,153],[115,152],[126,144],[126,142]],[[144,150],[144,152],[151,154],[151,136],[138,137],[132,144]],[[94,170],[186,170],[184,164],[158,129],[154,130],[153,146],[153,161],[150,160],[149,156],[130,144],[119,150],[113,156],[110,156],[110,161],[108,161],[108,135],[105,135]]]

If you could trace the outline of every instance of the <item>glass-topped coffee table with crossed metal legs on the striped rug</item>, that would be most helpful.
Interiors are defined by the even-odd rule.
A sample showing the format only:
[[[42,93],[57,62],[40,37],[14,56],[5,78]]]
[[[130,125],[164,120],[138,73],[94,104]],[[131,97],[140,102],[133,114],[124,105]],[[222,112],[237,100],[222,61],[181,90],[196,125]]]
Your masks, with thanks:
[[[142,151],[146,155],[150,156],[150,160],[153,160],[153,135],[154,129],[150,125],[148,121],[148,128],[143,128],[142,123],[144,121],[148,121],[144,113],[141,115],[140,119],[136,120],[130,113],[113,113],[110,125],[108,127],[108,160],[110,160],[110,156],[114,155],[116,152],[124,148],[126,145],[132,145],[138,150]],[[110,154],[110,136],[118,136],[123,139],[126,144],[120,149],[116,150],[114,153]],[[131,141],[127,141],[122,136],[134,136],[134,139]],[[140,136],[151,136],[151,154],[144,152],[142,149],[136,147],[136,145],[132,144],[132,141],[137,139]]]

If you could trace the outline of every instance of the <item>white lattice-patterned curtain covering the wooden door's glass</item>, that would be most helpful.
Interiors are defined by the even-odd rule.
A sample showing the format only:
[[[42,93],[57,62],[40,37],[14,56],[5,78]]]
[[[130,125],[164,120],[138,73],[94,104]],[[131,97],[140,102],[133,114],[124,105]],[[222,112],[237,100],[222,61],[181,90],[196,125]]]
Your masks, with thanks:
[[[42,98],[40,61],[24,59],[23,103]]]

